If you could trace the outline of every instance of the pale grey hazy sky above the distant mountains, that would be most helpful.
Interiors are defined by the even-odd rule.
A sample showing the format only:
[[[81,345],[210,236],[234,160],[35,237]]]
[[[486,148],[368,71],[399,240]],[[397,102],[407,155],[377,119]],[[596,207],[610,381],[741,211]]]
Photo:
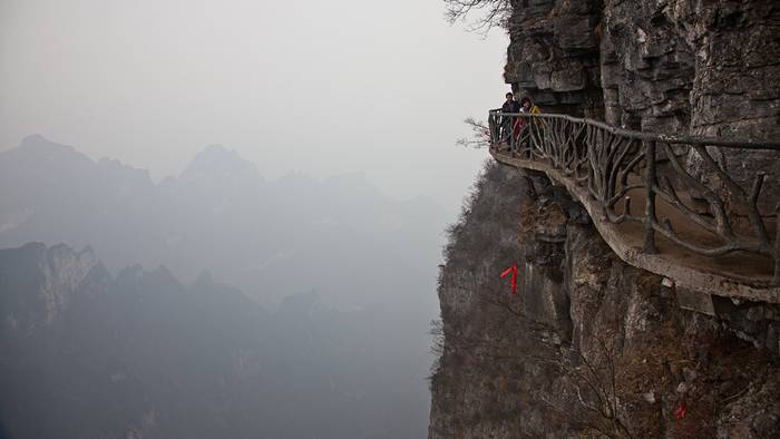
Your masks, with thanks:
[[[506,36],[440,0],[0,0],[0,149],[29,134],[177,174],[208,144],[274,178],[362,172],[455,208],[454,145],[508,89]]]

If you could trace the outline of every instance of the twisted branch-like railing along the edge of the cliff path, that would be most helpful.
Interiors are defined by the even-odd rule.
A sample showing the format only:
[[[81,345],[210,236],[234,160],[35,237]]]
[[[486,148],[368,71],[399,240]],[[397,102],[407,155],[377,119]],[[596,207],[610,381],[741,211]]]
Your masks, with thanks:
[[[769,285],[780,284],[780,192],[762,191],[764,173],[745,181],[719,162],[722,148],[767,150],[774,162],[780,143],[664,136],[566,115],[490,111],[488,121],[494,154],[554,169],[595,202],[594,222],[638,225],[644,254],[669,251],[659,234],[703,256],[742,252],[770,258]]]

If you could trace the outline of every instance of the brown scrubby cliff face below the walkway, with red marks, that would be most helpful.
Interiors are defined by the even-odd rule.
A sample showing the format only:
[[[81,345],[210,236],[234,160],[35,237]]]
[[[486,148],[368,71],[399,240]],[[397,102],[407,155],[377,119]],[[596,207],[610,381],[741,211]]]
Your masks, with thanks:
[[[430,438],[780,433],[780,309],[681,310],[546,178],[489,164],[445,256]]]

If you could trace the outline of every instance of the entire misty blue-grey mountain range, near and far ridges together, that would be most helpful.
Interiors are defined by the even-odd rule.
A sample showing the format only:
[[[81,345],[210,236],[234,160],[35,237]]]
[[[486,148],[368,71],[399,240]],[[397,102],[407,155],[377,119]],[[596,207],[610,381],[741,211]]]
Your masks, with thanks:
[[[30,136],[0,154],[0,436],[425,436],[447,220],[220,146],[156,184]]]

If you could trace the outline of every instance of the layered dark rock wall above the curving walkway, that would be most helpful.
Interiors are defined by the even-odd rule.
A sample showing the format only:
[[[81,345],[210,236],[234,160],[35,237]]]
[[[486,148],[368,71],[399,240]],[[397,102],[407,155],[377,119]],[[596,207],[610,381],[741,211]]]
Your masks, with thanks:
[[[780,134],[772,0],[517,0],[505,79],[549,111],[659,133]]]

